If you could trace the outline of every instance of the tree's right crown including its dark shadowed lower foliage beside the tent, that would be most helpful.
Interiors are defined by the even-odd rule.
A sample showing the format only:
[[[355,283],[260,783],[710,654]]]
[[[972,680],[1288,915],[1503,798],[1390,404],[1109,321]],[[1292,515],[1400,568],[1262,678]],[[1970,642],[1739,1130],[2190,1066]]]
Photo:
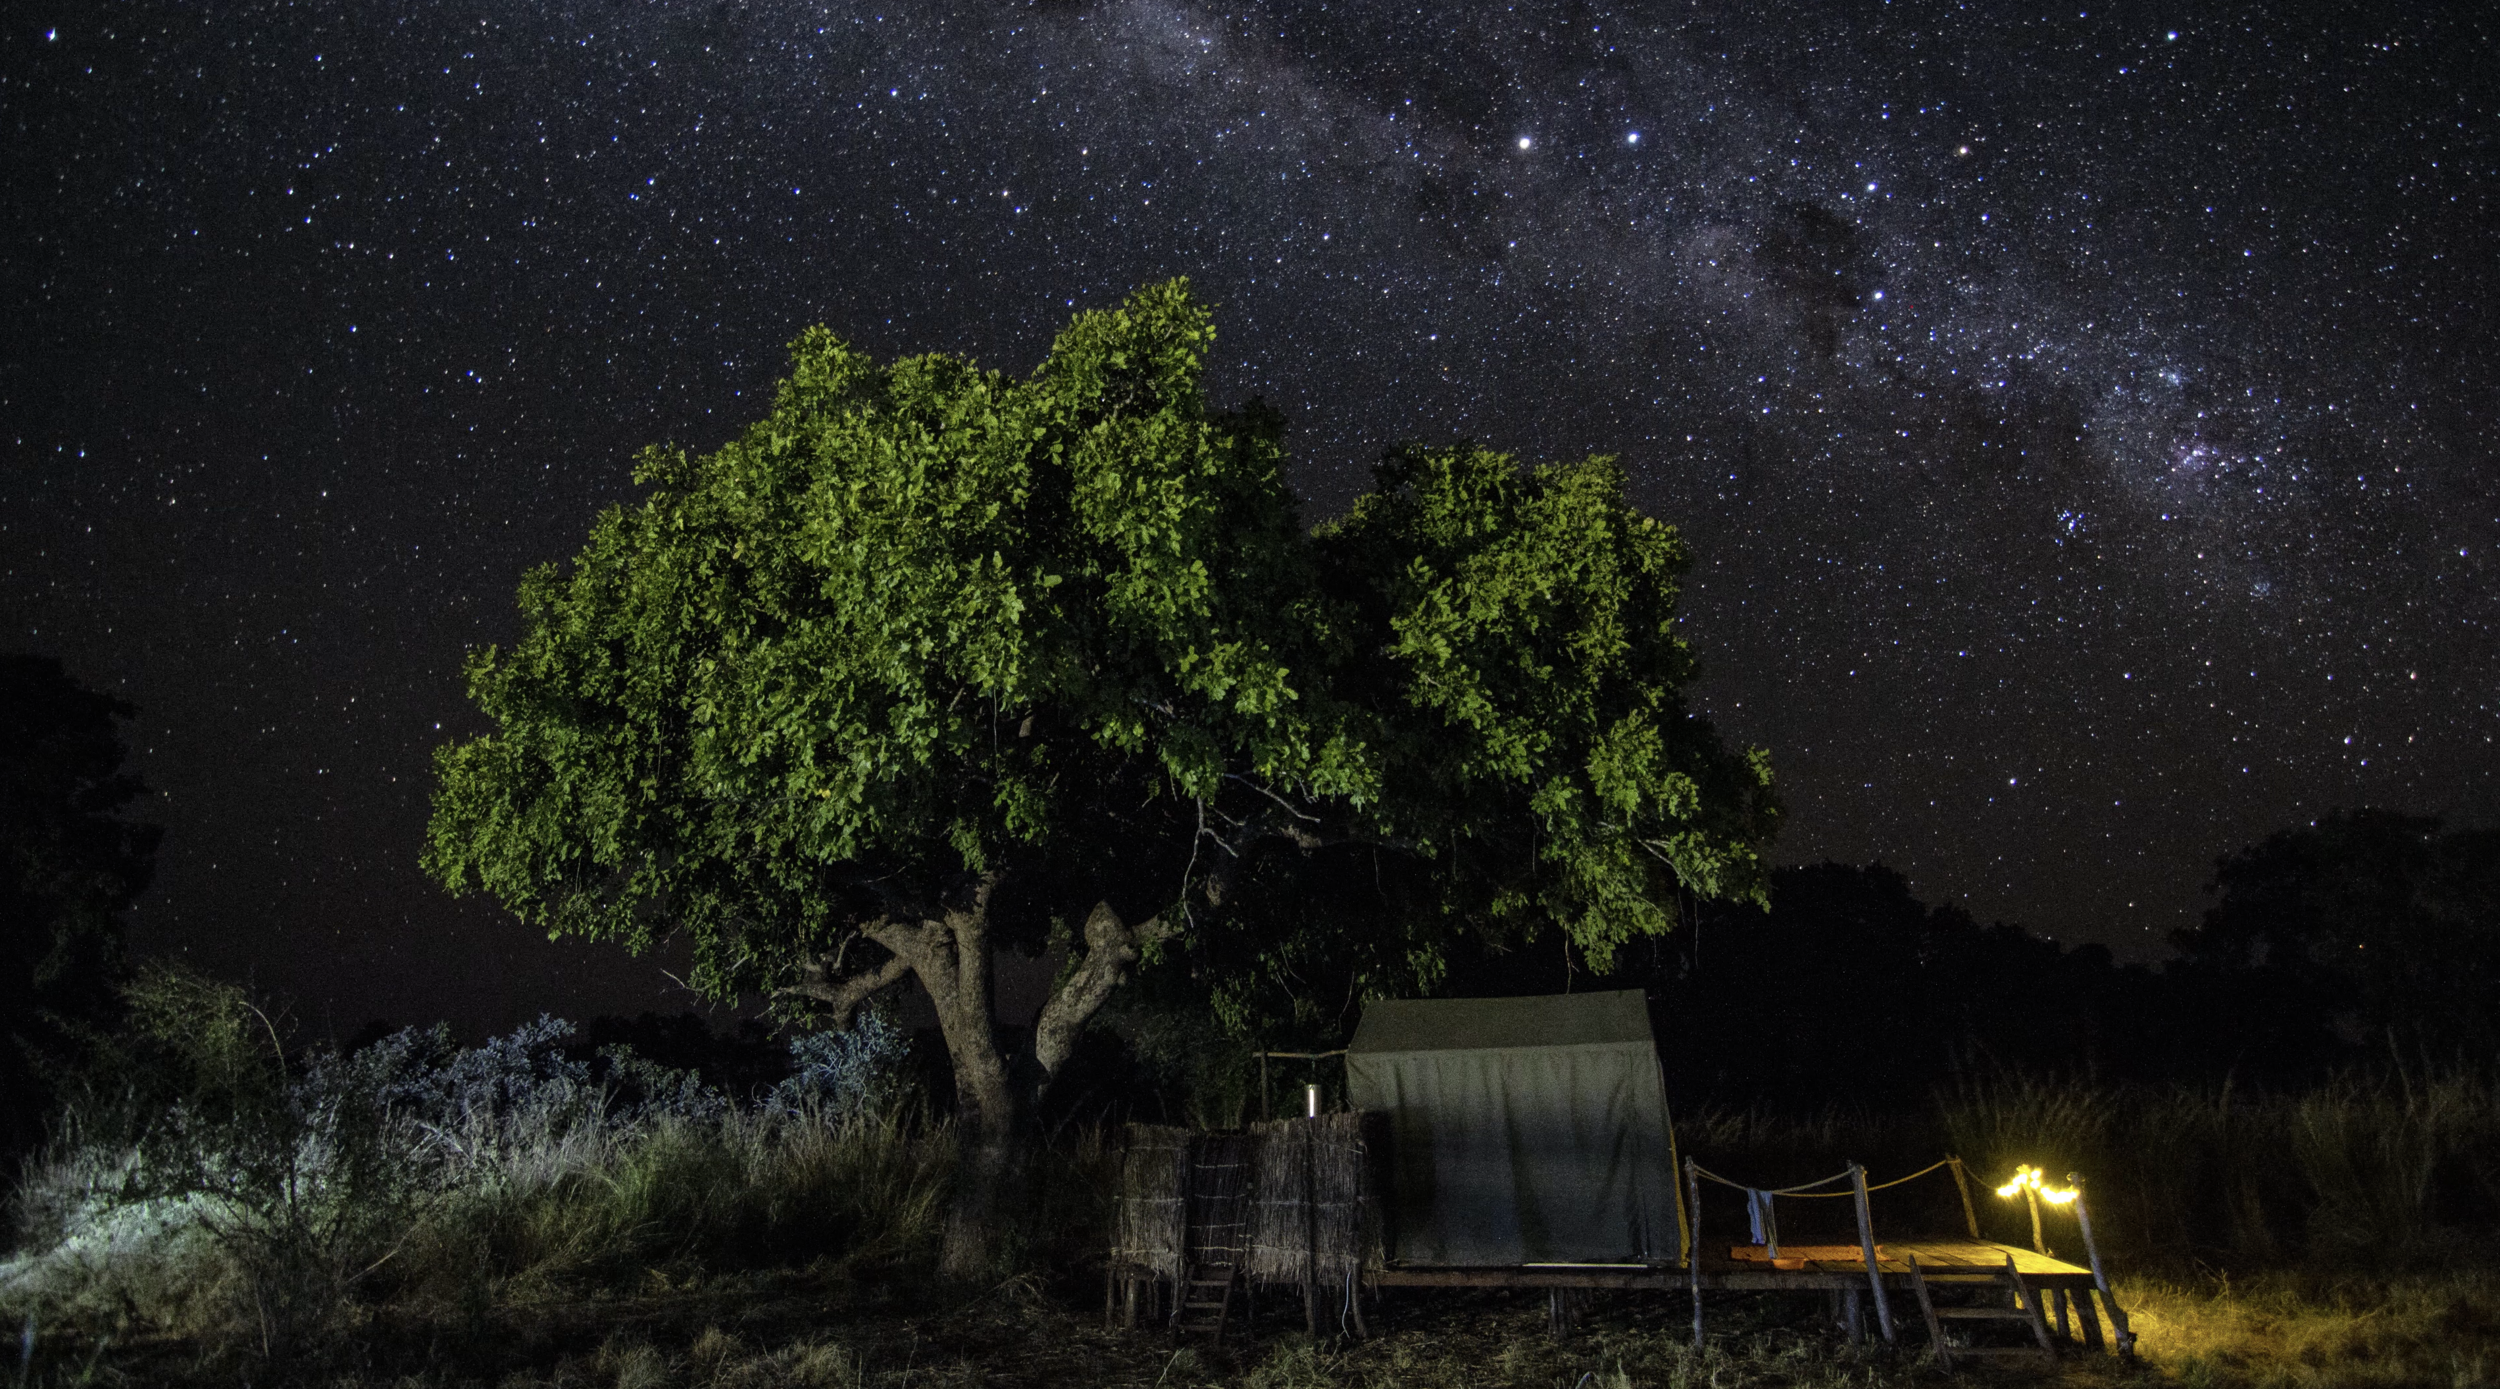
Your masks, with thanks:
[[[1318,847],[1245,857],[1185,974],[1148,977],[1122,1017],[1135,1044],[1212,1012],[1330,1049],[1362,999],[1430,992],[1548,927],[1605,972],[1678,927],[1680,892],[1768,899],[1768,754],[1685,709],[1685,550],[1622,492],[1605,457],[1400,450],[1320,527],[1332,622],[1355,635],[1330,692],[1362,709],[1380,789],[1312,807]]]

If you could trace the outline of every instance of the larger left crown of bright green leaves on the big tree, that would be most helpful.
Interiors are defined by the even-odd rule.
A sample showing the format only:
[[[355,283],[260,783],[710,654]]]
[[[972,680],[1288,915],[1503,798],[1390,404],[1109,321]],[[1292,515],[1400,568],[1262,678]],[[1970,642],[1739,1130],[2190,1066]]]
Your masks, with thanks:
[[[885,909],[1082,852],[1225,772],[1360,794],[1300,699],[1315,615],[1268,415],[1210,417],[1180,285],[1080,315],[1032,380],[792,342],[772,415],[610,510],[470,665],[498,732],[440,754],[428,864],[558,934],[788,982]],[[1118,794],[1112,794],[1118,789]]]

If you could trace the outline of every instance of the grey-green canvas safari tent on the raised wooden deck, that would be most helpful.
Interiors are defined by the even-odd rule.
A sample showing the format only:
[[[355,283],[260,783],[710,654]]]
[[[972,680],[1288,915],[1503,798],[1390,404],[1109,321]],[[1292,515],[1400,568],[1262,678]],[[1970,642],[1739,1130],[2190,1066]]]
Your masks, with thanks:
[[[1388,1117],[1390,1264],[1682,1262],[1675,1137],[1638,989],[1375,1002],[1345,1087]]]

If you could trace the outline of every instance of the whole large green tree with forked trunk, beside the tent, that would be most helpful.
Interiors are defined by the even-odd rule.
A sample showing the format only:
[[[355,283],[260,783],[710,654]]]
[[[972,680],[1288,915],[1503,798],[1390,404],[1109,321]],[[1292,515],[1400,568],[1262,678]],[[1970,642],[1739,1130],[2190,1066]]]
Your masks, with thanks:
[[[1435,864],[1398,922],[1552,922],[1592,957],[1682,882],[1760,894],[1770,772],[1678,702],[1682,550],[1602,460],[1392,457],[1312,535],[1282,422],[1198,390],[1182,282],[1085,312],[1028,380],[810,330],[765,420],[605,512],[470,662],[430,869],[552,934],[685,932],[692,982],[835,1022],[915,977],[972,1152],[980,1259],[1020,1109],[1145,952],[1245,872]],[[1248,919],[1248,917],[1245,917]],[[1070,967],[1032,1047],[995,947]]]

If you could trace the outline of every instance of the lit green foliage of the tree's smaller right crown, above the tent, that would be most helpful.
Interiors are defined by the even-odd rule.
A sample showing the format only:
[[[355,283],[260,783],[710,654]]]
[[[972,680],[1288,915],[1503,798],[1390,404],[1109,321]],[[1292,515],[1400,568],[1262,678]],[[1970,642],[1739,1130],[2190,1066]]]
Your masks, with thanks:
[[[1615,460],[1402,450],[1325,527],[1380,709],[1382,829],[1445,854],[1470,907],[1552,919],[1590,964],[1675,924],[1678,887],[1765,902],[1770,759],[1682,704],[1685,547]]]

